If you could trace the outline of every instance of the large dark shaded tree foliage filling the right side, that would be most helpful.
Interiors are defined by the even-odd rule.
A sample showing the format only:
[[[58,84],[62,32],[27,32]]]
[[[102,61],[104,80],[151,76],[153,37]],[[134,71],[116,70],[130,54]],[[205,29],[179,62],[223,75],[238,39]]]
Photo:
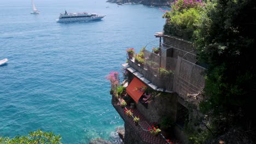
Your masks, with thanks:
[[[219,134],[236,126],[255,130],[255,5],[253,0],[207,4],[194,32],[199,60],[209,65],[207,100],[200,109]]]

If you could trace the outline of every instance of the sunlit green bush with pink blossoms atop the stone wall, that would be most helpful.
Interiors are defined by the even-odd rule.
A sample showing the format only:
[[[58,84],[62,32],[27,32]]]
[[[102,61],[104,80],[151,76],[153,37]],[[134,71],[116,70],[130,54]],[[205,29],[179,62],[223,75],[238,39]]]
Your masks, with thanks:
[[[193,31],[200,19],[205,3],[201,0],[177,0],[172,3],[172,10],[162,16],[167,18],[164,33],[191,40]]]

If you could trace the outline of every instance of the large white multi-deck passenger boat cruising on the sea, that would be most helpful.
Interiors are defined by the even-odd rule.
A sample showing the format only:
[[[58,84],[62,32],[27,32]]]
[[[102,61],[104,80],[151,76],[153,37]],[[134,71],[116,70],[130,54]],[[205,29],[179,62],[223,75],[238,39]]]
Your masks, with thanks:
[[[101,20],[106,15],[97,15],[90,13],[61,13],[57,22],[71,22],[71,21],[92,21],[92,20]]]

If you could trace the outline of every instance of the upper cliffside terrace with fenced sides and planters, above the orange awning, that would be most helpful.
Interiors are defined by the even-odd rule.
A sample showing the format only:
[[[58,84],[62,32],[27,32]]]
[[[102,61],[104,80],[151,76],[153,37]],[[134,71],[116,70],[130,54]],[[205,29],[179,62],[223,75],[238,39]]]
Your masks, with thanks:
[[[159,53],[153,49],[150,51],[150,47],[159,47]],[[195,104],[203,99],[203,71],[206,69],[196,64],[196,51],[190,42],[166,36],[164,43],[149,43],[141,53],[143,60],[140,62],[136,60],[138,55],[127,55],[127,63],[123,67],[147,86],[155,91],[177,93],[184,100]]]

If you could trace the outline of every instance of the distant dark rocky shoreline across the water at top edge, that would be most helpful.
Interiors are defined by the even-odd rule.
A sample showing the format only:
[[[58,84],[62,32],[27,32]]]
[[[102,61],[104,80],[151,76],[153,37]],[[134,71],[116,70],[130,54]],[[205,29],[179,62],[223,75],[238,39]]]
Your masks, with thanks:
[[[109,3],[141,3],[155,7],[170,7],[167,0],[108,0]],[[169,1],[170,2],[170,1]]]

